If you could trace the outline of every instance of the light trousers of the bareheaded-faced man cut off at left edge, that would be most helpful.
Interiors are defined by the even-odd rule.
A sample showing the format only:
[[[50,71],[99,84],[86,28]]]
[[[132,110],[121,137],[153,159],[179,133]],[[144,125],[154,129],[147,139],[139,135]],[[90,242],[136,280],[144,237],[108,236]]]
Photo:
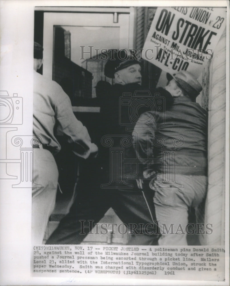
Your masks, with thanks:
[[[33,177],[42,187],[32,189],[32,243],[41,244],[55,207],[58,183],[57,165],[48,150],[34,149]]]

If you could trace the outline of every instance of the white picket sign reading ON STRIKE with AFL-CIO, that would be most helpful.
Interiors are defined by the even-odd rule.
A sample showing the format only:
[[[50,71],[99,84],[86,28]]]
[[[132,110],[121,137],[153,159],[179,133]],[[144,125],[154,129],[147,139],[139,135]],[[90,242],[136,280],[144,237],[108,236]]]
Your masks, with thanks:
[[[142,57],[165,72],[196,78],[213,57],[226,27],[225,7],[158,7]]]

